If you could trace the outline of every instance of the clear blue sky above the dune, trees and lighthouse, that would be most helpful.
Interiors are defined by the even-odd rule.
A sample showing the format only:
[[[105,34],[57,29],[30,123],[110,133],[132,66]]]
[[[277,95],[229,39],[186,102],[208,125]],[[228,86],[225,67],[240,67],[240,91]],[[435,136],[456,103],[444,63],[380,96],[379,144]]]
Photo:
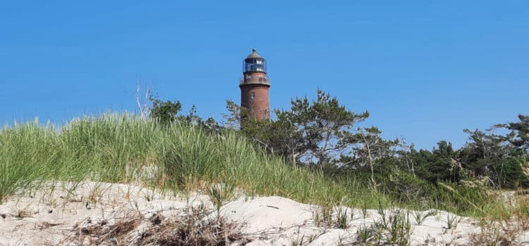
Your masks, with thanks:
[[[134,111],[142,79],[221,118],[251,48],[271,107],[317,88],[420,148],[529,114],[529,1],[2,1],[0,124]]]

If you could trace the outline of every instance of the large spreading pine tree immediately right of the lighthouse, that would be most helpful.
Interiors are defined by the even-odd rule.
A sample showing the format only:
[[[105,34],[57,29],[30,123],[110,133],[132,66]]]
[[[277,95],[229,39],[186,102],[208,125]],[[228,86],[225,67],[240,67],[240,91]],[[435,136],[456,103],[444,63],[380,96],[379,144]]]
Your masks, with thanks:
[[[369,116],[347,110],[329,93],[317,91],[317,98],[291,101],[290,110],[275,110],[276,119],[263,122],[249,119],[243,134],[267,146],[270,152],[296,164],[319,169],[339,164],[341,154],[353,145],[353,127]]]

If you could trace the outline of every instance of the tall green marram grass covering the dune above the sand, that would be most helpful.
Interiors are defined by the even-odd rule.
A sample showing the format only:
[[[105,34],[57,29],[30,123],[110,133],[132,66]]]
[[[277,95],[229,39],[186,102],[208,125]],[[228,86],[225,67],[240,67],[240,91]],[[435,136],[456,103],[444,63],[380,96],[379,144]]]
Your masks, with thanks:
[[[190,190],[196,183],[224,183],[249,195],[279,195],[327,206],[392,203],[387,195],[367,188],[363,179],[330,179],[292,167],[233,131],[211,135],[188,124],[162,126],[125,114],[73,119],[60,128],[34,121],[0,131],[0,202],[35,181],[128,183],[145,167],[157,167],[150,183],[157,188]],[[485,215],[485,205],[451,208],[437,198],[429,202],[432,208]],[[487,213],[497,212],[490,202],[486,206]]]

